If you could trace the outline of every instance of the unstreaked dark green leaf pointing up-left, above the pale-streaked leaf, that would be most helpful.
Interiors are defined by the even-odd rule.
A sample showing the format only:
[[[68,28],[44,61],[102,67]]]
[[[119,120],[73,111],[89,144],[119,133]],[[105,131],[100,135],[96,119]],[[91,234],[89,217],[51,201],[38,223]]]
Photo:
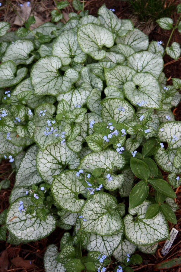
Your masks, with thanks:
[[[150,170],[148,165],[139,159],[131,157],[130,167],[132,172],[141,180],[148,180],[150,176]]]

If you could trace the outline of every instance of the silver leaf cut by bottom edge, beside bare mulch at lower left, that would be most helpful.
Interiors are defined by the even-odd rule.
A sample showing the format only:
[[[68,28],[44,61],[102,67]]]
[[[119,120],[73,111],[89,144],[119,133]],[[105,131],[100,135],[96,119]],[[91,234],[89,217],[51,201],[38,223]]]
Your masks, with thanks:
[[[59,252],[57,250],[57,246],[55,244],[50,244],[45,251],[43,261],[44,261],[44,267],[46,272],[64,272],[66,271],[65,267],[63,267],[63,264],[56,261],[57,256],[59,255]]]

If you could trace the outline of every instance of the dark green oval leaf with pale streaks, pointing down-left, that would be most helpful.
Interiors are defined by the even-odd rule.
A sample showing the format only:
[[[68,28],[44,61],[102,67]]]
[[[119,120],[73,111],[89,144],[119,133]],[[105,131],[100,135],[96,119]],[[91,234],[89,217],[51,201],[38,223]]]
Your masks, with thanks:
[[[148,196],[149,187],[147,182],[141,180],[131,190],[129,195],[129,208],[135,208],[140,205]]]

